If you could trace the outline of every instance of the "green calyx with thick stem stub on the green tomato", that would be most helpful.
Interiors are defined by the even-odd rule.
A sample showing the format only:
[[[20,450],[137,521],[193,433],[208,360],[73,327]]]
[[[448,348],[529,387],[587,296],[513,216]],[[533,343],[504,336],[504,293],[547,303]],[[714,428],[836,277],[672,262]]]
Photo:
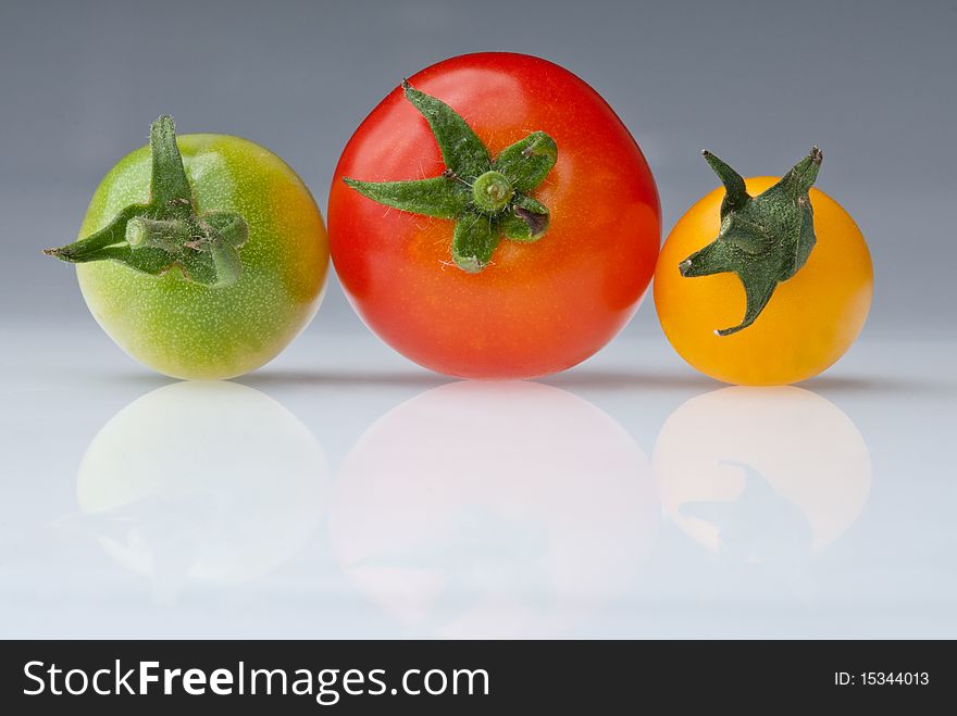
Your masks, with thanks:
[[[249,236],[246,221],[236,212],[197,212],[172,117],[150,126],[150,151],[146,204],[126,206],[96,234],[44,253],[75,264],[119,261],[152,276],[176,267],[184,279],[208,287],[235,284],[243,272],[239,248]]]

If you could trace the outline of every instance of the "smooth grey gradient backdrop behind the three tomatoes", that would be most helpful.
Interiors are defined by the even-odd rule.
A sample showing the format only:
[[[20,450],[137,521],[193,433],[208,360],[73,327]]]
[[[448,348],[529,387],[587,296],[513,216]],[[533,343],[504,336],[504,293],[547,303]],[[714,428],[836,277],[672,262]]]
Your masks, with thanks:
[[[151,8],[162,8],[152,10]],[[283,156],[324,210],[351,131],[403,75],[511,50],[581,75],[651,165],[668,230],[716,186],[811,143],[858,221],[877,294],[866,335],[955,331],[957,2],[9,2],[0,4],[0,325],[97,330],[65,266],[109,167],[172,113]],[[626,329],[658,331],[654,311]],[[362,330],[337,285],[310,331]]]

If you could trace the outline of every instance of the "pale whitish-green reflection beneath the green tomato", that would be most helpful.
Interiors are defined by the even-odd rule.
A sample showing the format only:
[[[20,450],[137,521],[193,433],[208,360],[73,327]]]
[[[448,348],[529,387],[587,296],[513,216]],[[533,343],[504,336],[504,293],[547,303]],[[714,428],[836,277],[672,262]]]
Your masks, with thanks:
[[[76,490],[103,549],[174,596],[184,582],[243,582],[291,557],[327,486],[322,448],[274,400],[232,382],[178,382],[103,426]]]

